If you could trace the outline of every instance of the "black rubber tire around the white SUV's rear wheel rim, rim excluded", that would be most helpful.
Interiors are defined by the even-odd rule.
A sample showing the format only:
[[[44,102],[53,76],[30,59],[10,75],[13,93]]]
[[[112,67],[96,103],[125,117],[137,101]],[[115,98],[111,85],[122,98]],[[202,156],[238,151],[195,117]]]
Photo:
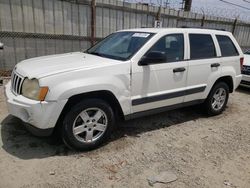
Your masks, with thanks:
[[[212,99],[213,99],[214,93],[219,88],[225,89],[225,91],[226,91],[226,100],[225,100],[225,102],[224,102],[224,104],[223,104],[223,106],[221,107],[220,110],[214,110],[213,107],[212,107]],[[218,115],[218,114],[221,114],[225,110],[225,108],[226,108],[226,105],[227,105],[227,102],[228,102],[228,98],[229,98],[229,87],[228,87],[228,85],[225,82],[218,82],[218,83],[216,83],[213,86],[211,92],[209,93],[209,96],[208,96],[208,98],[206,100],[206,103],[205,103],[206,104],[207,113],[209,115]]]

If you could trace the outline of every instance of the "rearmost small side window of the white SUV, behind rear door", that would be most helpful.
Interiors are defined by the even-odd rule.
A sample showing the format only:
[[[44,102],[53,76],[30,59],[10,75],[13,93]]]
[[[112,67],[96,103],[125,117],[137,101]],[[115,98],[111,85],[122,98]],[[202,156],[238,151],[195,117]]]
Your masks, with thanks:
[[[216,38],[220,45],[220,51],[222,56],[237,56],[239,52],[237,51],[234,43],[228,36],[216,35]]]

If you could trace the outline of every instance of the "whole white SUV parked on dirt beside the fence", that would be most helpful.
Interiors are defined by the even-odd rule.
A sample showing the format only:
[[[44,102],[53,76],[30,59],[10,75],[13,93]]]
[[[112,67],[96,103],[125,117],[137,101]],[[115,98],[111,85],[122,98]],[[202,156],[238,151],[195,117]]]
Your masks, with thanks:
[[[6,85],[10,114],[36,135],[60,131],[79,150],[103,143],[118,118],[204,103],[220,114],[240,84],[233,35],[206,29],[115,32],[85,52],[18,63]]]

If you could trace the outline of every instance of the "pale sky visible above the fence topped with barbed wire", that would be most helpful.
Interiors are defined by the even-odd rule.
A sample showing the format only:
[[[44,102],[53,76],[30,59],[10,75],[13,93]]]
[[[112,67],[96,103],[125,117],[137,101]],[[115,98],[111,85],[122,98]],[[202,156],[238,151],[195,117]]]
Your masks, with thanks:
[[[182,0],[125,0],[133,3],[150,3],[168,6],[176,9],[181,8]],[[230,4],[231,3],[231,4]],[[235,5],[232,5],[235,4]],[[237,6],[236,6],[237,5]],[[250,0],[193,0],[192,11],[214,16],[236,18],[250,22]]]

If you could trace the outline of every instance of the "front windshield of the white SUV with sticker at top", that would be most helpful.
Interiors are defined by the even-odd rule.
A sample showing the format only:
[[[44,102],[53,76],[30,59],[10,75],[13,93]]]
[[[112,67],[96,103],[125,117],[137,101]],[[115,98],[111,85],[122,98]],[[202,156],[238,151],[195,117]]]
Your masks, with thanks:
[[[117,32],[109,35],[85,53],[116,60],[127,60],[132,57],[151,37],[153,33]]]

